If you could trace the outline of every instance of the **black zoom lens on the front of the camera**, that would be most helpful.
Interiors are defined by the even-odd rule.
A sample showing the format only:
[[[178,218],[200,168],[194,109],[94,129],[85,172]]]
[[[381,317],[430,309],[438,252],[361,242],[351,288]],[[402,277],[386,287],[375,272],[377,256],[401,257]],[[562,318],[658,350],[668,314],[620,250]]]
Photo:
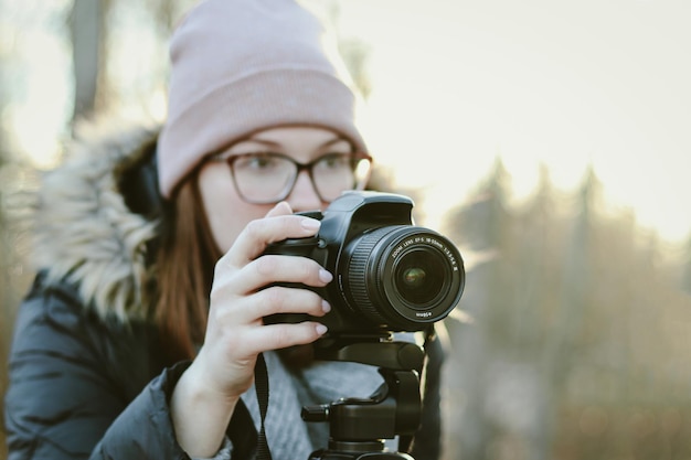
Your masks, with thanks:
[[[463,293],[458,249],[428,228],[393,225],[365,232],[342,256],[343,299],[381,328],[421,330],[450,313]]]

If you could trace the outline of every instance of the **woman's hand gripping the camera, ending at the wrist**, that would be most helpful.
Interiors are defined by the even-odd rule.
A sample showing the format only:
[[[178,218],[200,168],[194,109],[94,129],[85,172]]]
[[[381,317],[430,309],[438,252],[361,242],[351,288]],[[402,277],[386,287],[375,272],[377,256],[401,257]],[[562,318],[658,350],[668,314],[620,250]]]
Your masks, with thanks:
[[[293,215],[287,203],[251,222],[216,264],[206,336],[195,364],[206,385],[226,397],[237,397],[251,385],[258,353],[310,343],[326,328],[315,322],[264,325],[274,313],[323,315],[328,303],[307,289],[269,287],[297,282],[322,287],[332,276],[316,261],[296,256],[262,256],[269,243],[312,236],[319,221]]]

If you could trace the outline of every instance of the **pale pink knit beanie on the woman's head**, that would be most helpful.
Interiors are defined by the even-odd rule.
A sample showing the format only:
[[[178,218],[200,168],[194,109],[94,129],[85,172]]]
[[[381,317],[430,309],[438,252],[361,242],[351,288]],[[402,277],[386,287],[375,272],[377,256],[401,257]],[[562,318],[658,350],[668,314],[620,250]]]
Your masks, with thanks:
[[[329,128],[366,151],[336,42],[296,0],[202,1],[176,30],[170,56],[163,196],[206,154],[270,127]]]

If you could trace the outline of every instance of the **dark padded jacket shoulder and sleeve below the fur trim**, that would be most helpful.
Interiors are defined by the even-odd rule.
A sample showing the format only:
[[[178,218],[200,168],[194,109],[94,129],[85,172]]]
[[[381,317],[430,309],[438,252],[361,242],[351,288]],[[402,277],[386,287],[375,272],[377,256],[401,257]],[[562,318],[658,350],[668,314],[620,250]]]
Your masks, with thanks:
[[[10,459],[187,458],[167,406],[184,365],[164,368],[155,336],[145,323],[104,323],[74,289],[39,277],[12,347]]]

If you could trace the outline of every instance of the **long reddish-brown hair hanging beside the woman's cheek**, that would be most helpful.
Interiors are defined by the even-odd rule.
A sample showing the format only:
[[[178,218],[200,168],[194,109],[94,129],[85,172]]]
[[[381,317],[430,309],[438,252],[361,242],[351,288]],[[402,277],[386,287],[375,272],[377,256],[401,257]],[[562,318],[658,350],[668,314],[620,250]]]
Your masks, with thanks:
[[[192,359],[204,339],[209,292],[221,257],[199,192],[199,169],[177,191],[157,255],[155,321],[167,359]]]

